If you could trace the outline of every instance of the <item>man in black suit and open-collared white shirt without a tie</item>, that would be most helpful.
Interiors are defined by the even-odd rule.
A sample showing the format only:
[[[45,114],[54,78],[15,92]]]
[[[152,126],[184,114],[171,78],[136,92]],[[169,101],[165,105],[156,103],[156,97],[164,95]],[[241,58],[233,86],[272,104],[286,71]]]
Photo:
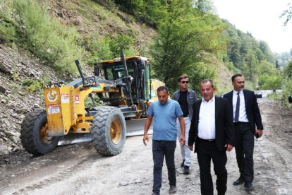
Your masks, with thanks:
[[[201,194],[213,194],[213,182],[210,172],[211,159],[217,175],[218,194],[225,194],[227,184],[226,150],[233,148],[233,122],[231,108],[224,98],[214,96],[214,83],[205,79],[200,83],[202,100],[193,106],[193,118],[190,124],[188,146],[195,153],[200,166]]]

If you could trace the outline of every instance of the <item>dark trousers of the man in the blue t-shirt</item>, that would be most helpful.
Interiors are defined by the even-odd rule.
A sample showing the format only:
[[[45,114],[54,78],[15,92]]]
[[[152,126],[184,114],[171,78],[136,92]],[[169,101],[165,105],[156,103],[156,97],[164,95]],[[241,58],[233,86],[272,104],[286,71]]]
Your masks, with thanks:
[[[153,192],[159,194],[162,187],[162,167],[165,156],[167,171],[169,175],[169,185],[176,185],[176,166],[174,165],[174,151],[176,141],[152,141],[153,153]]]

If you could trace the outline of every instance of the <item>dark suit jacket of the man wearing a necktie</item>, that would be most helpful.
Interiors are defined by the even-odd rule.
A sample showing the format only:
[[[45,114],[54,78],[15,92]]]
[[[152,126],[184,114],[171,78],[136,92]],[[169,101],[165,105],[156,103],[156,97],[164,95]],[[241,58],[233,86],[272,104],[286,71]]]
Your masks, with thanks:
[[[250,128],[253,129],[255,133],[255,129],[264,129],[262,126],[262,117],[260,116],[260,109],[257,105],[257,97],[255,97],[255,93],[251,90],[243,90],[244,102],[245,102],[245,112],[248,117],[248,122],[250,124]],[[229,105],[231,106],[232,116],[233,116],[233,90],[229,93],[224,94],[223,96],[229,101]]]

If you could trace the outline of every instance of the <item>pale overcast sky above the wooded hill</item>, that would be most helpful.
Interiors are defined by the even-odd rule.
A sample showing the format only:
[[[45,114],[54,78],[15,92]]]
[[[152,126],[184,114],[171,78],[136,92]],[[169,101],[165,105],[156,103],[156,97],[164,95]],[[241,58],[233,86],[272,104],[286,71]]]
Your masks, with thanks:
[[[229,20],[257,40],[264,40],[272,52],[289,52],[292,48],[292,20],[284,27],[281,13],[292,0],[213,0],[220,18]]]

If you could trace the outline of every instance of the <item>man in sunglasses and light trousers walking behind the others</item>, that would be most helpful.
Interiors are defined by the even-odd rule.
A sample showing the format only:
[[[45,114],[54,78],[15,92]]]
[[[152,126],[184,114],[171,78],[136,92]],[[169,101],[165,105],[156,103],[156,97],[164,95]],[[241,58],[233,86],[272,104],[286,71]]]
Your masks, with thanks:
[[[183,111],[183,119],[185,120],[185,141],[188,141],[188,132],[190,130],[190,121],[193,117],[193,104],[197,101],[197,95],[195,91],[188,88],[188,75],[183,74],[178,78],[179,90],[177,90],[174,95],[172,95],[172,99],[176,100],[181,106],[181,110]],[[178,138],[181,136],[181,126],[179,122],[177,124],[178,130]],[[181,163],[181,167],[183,167],[183,173],[185,175],[190,174],[190,160],[192,157],[192,152],[188,148],[188,143],[181,143],[181,156],[183,158],[183,162]]]

